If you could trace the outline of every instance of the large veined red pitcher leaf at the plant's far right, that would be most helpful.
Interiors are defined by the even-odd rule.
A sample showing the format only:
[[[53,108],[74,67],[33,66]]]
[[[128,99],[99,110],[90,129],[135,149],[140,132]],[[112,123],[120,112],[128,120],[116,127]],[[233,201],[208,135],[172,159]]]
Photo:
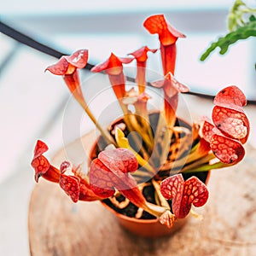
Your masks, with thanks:
[[[236,86],[220,90],[214,98],[216,106],[212,109],[212,125],[205,120],[202,137],[210,143],[212,153],[225,164],[236,164],[242,160],[250,124],[242,107],[246,97]]]

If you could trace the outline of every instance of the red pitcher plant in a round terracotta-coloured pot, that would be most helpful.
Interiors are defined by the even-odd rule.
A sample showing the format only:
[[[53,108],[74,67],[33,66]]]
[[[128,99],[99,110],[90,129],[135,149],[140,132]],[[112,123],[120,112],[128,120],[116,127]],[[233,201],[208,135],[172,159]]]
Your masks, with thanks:
[[[90,162],[85,163],[88,172],[67,161],[52,166],[44,157],[48,146],[40,140],[32,167],[36,182],[44,177],[59,183],[73,202],[102,201],[126,229],[139,236],[165,236],[182,226],[189,212],[196,215],[192,205],[202,207],[207,202],[209,172],[236,165],[244,157],[242,144],[247,142],[249,122],[242,107],[247,101],[241,90],[231,85],[215,96],[212,121],[205,118],[201,124],[189,124],[177,116],[178,96],[189,90],[174,77],[176,42],[184,35],[164,15],[152,15],[143,25],[159,35],[163,79],[150,84],[146,79],[148,51],[158,52],[147,46],[132,52],[132,57],[111,54],[93,67],[91,72],[108,75],[123,111],[121,118],[110,120],[108,129],[84,100],[79,69],[87,64],[87,49],[62,56],[46,68],[63,76],[101,136],[90,148]],[[137,61],[137,76],[134,88],[127,90],[123,65],[131,61]],[[158,111],[148,109],[150,86],[162,92],[156,94],[163,102]],[[138,225],[143,230],[138,231]]]

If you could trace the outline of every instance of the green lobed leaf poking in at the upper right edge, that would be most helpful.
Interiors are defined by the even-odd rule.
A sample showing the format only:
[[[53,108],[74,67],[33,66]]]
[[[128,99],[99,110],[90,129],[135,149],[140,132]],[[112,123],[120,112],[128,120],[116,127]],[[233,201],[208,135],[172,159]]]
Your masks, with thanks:
[[[244,26],[239,26],[236,31],[230,32],[224,37],[218,38],[218,41],[212,43],[210,47],[201,55],[200,60],[205,61],[212,51],[217,47],[220,48],[219,53],[224,55],[231,44],[235,44],[238,40],[249,37],[256,37],[256,20],[253,18],[250,18],[250,22],[247,22]]]

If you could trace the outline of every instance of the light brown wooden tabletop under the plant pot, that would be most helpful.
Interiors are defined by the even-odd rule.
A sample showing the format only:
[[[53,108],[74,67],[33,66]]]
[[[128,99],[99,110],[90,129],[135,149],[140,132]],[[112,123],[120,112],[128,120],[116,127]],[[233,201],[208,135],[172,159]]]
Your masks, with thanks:
[[[78,144],[66,150],[76,152]],[[56,154],[55,164],[66,158],[66,152]],[[79,153],[73,158],[79,158]],[[58,185],[41,178],[29,209],[31,254],[256,255],[255,160],[256,150],[248,146],[239,165],[213,170],[209,201],[196,208],[204,219],[191,217],[173,236],[154,240],[131,236],[99,202],[73,204]]]

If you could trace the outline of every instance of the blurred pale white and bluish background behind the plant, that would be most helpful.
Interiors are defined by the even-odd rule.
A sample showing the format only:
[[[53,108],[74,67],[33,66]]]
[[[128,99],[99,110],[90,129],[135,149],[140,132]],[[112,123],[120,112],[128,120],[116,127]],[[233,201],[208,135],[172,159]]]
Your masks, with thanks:
[[[0,15],[4,24],[65,54],[89,49],[89,62],[97,64],[110,52],[125,56],[145,44],[158,48],[156,36],[143,28],[143,21],[148,15],[164,14],[187,36],[177,43],[179,81],[193,92],[211,96],[226,85],[236,84],[255,101],[255,38],[231,46],[226,55],[215,51],[207,61],[199,61],[208,45],[227,32],[226,18],[233,3],[9,0],[0,4]],[[34,186],[30,161],[36,140],[50,145],[49,156],[63,145],[62,124],[69,93],[60,77],[44,73],[55,61],[55,57],[0,33],[0,255],[29,255],[26,218]],[[159,56],[152,56],[149,68],[160,72]],[[86,78],[90,74],[83,75]],[[193,100],[204,103],[201,97]],[[76,108],[79,106],[74,103],[73,113]],[[201,108],[198,114],[207,114],[206,110]],[[86,129],[90,127],[86,124]],[[78,135],[70,128],[65,143]]]

